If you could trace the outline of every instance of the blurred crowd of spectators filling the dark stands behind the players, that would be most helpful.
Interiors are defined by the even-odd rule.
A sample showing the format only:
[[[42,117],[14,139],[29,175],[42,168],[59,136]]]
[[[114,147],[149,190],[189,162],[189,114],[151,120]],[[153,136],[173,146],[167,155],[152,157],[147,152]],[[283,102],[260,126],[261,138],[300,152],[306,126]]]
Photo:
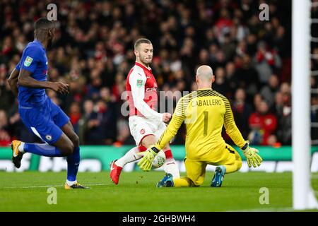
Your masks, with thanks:
[[[13,138],[39,141],[20,121],[6,79],[33,40],[34,21],[46,16],[50,3],[0,2],[0,145]],[[250,143],[290,145],[290,5],[278,0],[55,3],[58,21],[47,51],[48,79],[69,83],[70,93],[47,90],[47,95],[69,115],[82,145],[134,144],[121,107],[139,37],[153,42],[151,67],[159,90],[195,90],[196,68],[208,64],[216,75],[213,89],[228,97],[237,127]],[[259,20],[262,3],[269,4],[268,21]],[[312,60],[312,69],[318,69],[318,59]],[[318,105],[317,95],[312,105]],[[312,121],[317,118],[316,109]],[[184,129],[175,138],[175,144],[181,143]]]

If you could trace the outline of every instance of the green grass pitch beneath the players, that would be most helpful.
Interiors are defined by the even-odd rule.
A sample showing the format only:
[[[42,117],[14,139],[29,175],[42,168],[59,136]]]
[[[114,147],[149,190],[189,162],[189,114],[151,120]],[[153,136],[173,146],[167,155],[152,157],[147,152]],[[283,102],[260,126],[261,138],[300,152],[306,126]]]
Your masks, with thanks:
[[[207,172],[200,187],[155,187],[163,172],[123,172],[119,185],[109,172],[78,174],[87,190],[64,190],[66,172],[0,172],[0,211],[289,211],[292,210],[291,173],[226,174],[223,186],[209,186]],[[57,188],[57,204],[47,203],[47,189]],[[318,174],[312,174],[317,196]],[[260,189],[269,189],[269,204],[261,205]]]

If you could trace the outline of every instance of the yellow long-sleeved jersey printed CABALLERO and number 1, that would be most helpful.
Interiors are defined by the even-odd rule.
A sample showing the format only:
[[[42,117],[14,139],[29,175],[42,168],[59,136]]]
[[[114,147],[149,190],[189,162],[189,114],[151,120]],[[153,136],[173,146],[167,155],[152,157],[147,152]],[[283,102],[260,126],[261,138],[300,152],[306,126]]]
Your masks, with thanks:
[[[186,157],[190,154],[193,160],[202,160],[211,151],[224,148],[223,125],[237,146],[245,145],[235,125],[230,102],[215,90],[197,90],[179,100],[170,124],[156,143],[158,149],[161,150],[175,136],[183,121],[187,128]]]

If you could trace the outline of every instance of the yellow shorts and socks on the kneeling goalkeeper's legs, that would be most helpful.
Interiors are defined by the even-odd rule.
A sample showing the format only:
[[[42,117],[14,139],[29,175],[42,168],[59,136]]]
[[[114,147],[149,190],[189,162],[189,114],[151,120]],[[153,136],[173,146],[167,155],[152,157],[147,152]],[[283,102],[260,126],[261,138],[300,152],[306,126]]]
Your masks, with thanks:
[[[211,157],[212,159],[216,159],[213,156]],[[218,162],[189,160],[188,158],[184,160],[187,177],[192,180],[192,186],[203,184],[206,175],[206,165],[234,165],[235,161],[242,161],[239,153],[228,144],[225,145],[225,151],[223,151],[223,155],[218,159]]]

